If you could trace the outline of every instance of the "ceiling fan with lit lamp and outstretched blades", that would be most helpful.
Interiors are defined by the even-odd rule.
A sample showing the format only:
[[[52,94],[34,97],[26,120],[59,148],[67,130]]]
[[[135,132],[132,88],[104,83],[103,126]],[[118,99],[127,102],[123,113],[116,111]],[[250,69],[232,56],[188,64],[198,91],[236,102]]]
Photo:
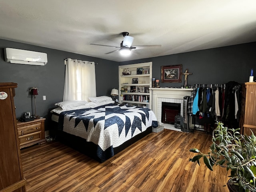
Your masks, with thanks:
[[[124,36],[124,40],[122,40],[120,47],[117,46],[110,46],[110,45],[100,45],[100,44],[93,44],[91,43],[91,45],[99,45],[99,46],[107,46],[107,47],[115,47],[118,48],[117,50],[114,51],[110,51],[108,53],[105,54],[110,54],[112,52],[115,51],[120,51],[120,53],[122,55],[129,55],[131,53],[132,50],[136,49],[137,47],[160,47],[161,45],[136,45],[136,46],[132,46],[132,42],[134,40],[134,37],[129,36],[128,32],[122,32],[122,35]]]

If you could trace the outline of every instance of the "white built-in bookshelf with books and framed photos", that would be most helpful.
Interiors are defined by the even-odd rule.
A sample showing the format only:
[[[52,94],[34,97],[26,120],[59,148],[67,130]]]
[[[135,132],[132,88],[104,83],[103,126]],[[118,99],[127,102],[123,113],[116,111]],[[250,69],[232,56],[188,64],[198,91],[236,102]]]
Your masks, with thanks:
[[[137,69],[142,68],[142,74]],[[119,66],[119,102],[152,108],[152,62]],[[146,74],[144,74],[146,71]],[[123,72],[130,73],[123,75]],[[133,83],[136,82],[136,83]],[[125,88],[121,96],[121,88]],[[127,92],[126,92],[127,91]]]

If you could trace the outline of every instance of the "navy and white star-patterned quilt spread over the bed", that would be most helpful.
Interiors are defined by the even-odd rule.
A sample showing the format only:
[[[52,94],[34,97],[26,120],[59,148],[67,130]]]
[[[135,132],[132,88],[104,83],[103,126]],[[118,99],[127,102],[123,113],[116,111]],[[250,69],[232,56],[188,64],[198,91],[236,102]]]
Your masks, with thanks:
[[[104,160],[108,149],[113,148],[144,132],[157,127],[154,112],[148,108],[109,104],[96,108],[70,110],[60,113],[59,129],[98,145],[97,156]]]

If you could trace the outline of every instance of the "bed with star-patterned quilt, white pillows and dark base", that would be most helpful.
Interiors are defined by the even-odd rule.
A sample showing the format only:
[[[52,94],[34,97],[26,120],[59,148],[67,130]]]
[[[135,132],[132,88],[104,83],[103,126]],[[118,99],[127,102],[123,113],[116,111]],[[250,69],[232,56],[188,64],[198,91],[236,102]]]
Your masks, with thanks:
[[[52,120],[58,122],[56,140],[99,162],[111,158],[158,126],[154,112],[148,108],[114,104],[107,96],[89,99],[90,102],[56,103],[58,108],[52,110]]]

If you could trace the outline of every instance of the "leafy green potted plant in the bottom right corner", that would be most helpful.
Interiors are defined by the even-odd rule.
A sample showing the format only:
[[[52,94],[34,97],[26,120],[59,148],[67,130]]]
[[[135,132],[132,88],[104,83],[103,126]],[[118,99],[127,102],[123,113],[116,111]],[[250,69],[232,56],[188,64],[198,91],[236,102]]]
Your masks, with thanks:
[[[203,158],[208,169],[218,165],[230,170],[228,188],[239,188],[239,191],[256,191],[256,137],[242,135],[238,129],[229,129],[222,122],[216,122],[217,128],[212,133],[212,145],[206,154],[196,148],[190,152],[198,153],[190,161],[200,165]],[[230,189],[230,191],[232,191]]]

